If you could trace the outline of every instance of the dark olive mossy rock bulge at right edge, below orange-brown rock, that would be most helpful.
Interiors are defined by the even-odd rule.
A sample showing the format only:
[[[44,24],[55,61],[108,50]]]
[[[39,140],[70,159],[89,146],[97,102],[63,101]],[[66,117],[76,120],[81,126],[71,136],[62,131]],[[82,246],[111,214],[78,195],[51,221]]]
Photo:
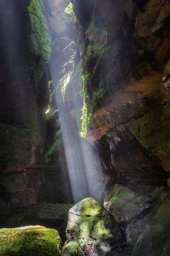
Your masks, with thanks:
[[[131,131],[142,146],[163,155],[170,154],[170,101],[158,102],[150,111],[131,122]]]

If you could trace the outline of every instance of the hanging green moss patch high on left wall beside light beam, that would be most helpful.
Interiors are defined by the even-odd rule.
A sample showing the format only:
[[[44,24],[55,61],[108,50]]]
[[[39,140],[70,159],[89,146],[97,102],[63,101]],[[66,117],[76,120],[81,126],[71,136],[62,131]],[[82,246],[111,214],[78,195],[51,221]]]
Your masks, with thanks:
[[[47,26],[47,20],[42,12],[41,2],[31,0],[28,7],[31,21],[31,71],[35,70],[35,78],[38,81],[42,77],[43,69],[51,55],[51,37]]]

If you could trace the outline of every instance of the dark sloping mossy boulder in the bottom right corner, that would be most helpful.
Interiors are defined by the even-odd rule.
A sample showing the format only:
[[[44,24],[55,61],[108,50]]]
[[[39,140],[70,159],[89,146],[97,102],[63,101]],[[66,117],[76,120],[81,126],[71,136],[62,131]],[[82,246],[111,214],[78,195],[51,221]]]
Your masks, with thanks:
[[[134,246],[131,256],[168,256],[170,252],[170,199],[167,197],[162,206],[147,225]]]

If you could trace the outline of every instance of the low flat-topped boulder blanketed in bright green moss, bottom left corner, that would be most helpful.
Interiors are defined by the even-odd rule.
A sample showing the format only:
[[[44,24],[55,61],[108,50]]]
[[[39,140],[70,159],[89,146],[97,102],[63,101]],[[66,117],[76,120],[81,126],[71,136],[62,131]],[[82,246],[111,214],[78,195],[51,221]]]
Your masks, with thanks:
[[[42,226],[0,230],[1,256],[60,256],[61,238],[57,230]]]

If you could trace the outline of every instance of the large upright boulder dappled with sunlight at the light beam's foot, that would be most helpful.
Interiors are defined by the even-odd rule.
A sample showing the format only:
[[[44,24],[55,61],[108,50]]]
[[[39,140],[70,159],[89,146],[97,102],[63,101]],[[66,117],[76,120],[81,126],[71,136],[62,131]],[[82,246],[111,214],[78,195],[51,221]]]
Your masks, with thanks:
[[[85,198],[69,210],[66,238],[76,241],[83,252],[96,255],[124,244],[114,217],[93,198]]]

